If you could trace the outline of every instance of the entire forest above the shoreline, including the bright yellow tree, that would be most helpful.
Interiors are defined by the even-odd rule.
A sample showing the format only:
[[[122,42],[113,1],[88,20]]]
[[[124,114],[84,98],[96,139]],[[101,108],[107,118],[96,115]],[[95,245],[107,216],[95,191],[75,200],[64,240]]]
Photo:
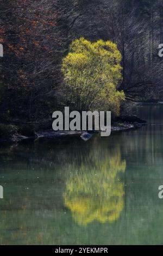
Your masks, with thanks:
[[[117,116],[161,100],[162,19],[162,0],[1,1],[0,132],[50,129],[65,106]]]

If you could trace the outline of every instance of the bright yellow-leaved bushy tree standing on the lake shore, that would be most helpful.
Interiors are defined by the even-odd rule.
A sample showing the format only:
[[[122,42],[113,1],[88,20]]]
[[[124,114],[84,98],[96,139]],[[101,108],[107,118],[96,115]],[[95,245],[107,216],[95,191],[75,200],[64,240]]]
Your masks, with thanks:
[[[100,109],[120,112],[124,93],[117,91],[121,80],[121,53],[111,41],[76,39],[63,59],[62,72],[70,88],[70,99],[78,110]]]

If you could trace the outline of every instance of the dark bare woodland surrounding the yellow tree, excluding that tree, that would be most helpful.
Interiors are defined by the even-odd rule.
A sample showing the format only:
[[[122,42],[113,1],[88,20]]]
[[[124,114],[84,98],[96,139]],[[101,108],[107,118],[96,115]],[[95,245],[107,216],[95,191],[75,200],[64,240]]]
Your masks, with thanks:
[[[163,98],[162,0],[1,0],[0,5],[2,124],[43,129],[51,125],[53,111],[76,107],[62,60],[81,37],[109,40],[121,52],[120,111],[131,102]]]

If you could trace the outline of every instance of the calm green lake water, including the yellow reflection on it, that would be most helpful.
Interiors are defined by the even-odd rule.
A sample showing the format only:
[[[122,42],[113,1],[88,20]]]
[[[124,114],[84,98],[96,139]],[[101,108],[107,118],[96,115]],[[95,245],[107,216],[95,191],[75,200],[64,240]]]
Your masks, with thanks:
[[[1,144],[0,244],[163,244],[163,106],[135,113],[149,125]]]

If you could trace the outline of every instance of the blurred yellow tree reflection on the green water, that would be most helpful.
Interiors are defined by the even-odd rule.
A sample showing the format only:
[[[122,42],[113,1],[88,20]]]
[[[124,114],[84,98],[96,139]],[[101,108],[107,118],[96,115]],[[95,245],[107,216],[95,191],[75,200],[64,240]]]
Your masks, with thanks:
[[[111,156],[107,151],[98,154],[96,148],[87,157],[93,162],[92,167],[86,160],[78,172],[67,180],[65,205],[78,224],[87,225],[94,220],[114,222],[120,217],[124,206],[124,184],[118,174],[125,172],[126,161],[121,159],[120,148],[114,150]]]

